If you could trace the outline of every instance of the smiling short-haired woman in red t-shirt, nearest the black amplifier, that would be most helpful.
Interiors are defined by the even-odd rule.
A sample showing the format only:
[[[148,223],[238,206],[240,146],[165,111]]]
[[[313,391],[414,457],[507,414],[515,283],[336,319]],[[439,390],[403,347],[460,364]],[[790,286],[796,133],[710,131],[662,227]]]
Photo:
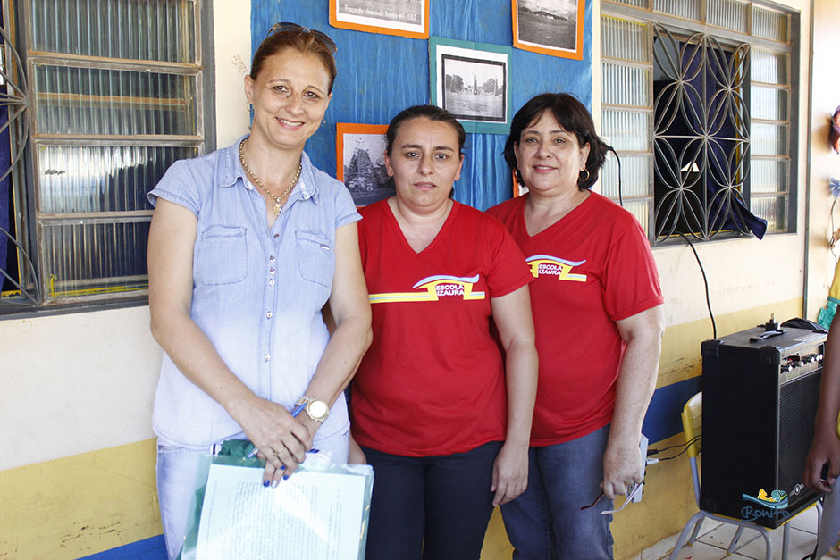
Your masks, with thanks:
[[[612,558],[612,500],[642,481],[642,421],[656,384],[662,293],[633,215],[591,192],[608,146],[567,94],[514,116],[505,159],[528,194],[488,213],[535,277],[540,375],[528,489],[501,508],[516,557]],[[608,499],[601,499],[601,497]]]

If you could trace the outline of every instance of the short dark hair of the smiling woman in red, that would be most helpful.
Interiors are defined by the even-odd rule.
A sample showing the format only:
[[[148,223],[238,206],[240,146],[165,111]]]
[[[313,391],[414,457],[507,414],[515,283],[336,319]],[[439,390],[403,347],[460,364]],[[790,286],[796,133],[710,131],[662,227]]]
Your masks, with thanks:
[[[516,173],[517,181],[525,185],[525,181],[522,180],[522,175],[519,174],[517,169],[517,155],[513,149],[514,145],[519,143],[522,131],[533,124],[534,121],[537,121],[545,111],[550,111],[564,130],[573,133],[581,147],[589,144],[589,157],[586,158],[586,171],[589,171],[589,176],[586,180],[578,178],[577,188],[581,190],[592,188],[592,185],[598,180],[598,171],[601,170],[607,158],[609,146],[595,133],[595,123],[592,122],[592,115],[584,107],[584,104],[575,99],[574,96],[565,93],[545,93],[532,97],[514,115],[513,121],[510,123],[508,141],[505,142],[504,155],[510,169]]]

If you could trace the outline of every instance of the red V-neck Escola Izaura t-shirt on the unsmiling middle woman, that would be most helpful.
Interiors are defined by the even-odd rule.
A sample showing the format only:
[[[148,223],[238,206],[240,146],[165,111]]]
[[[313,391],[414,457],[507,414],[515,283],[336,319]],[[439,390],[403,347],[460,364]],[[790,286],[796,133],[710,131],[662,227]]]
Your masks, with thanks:
[[[387,201],[360,212],[374,341],[353,380],[353,437],[401,456],[463,453],[505,439],[504,364],[490,300],[533,280],[517,244],[499,221],[455,203],[416,253]]]

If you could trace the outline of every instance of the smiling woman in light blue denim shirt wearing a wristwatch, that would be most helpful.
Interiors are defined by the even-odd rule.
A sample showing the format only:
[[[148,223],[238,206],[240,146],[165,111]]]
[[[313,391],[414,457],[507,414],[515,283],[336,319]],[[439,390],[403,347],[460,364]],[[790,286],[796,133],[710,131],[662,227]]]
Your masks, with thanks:
[[[171,557],[210,445],[250,439],[265,486],[313,446],[347,460],[342,390],[371,340],[360,216],[303,152],[332,98],[334,52],[319,31],[275,25],[245,78],[250,135],[174,163],[149,193],[151,328],[164,348],[153,423]],[[292,417],[296,404],[306,408]]]

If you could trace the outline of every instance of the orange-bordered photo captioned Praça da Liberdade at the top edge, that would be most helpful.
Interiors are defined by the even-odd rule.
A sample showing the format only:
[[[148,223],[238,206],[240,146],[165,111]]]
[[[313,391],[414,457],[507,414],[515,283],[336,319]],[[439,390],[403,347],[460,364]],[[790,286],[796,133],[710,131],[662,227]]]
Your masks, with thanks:
[[[330,0],[330,23],[341,29],[429,37],[429,0]]]

